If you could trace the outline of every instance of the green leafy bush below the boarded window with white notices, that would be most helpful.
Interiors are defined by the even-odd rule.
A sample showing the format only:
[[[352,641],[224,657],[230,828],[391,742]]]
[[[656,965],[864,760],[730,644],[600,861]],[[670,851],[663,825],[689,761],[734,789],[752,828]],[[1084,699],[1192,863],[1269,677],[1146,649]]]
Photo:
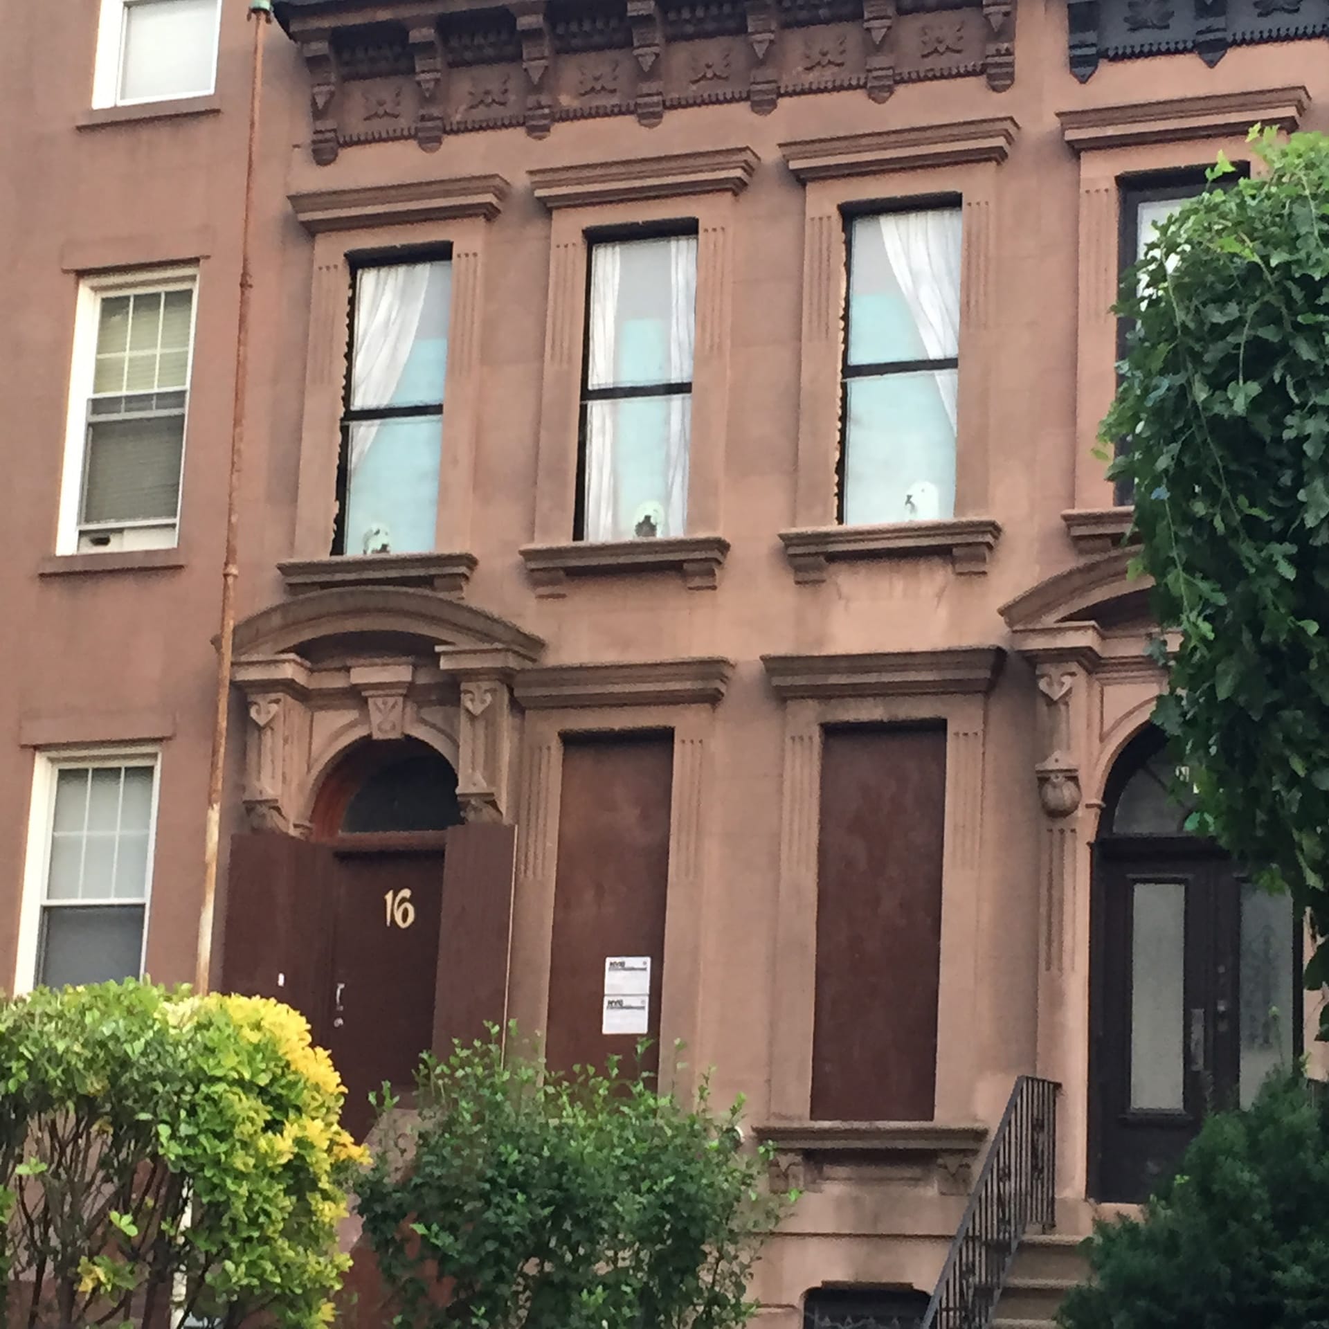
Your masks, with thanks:
[[[494,1031],[497,1033],[497,1031]],[[509,1046],[514,1042],[513,1037]],[[739,1111],[501,1042],[425,1058],[420,1118],[358,1188],[409,1329],[731,1329],[779,1217]]]

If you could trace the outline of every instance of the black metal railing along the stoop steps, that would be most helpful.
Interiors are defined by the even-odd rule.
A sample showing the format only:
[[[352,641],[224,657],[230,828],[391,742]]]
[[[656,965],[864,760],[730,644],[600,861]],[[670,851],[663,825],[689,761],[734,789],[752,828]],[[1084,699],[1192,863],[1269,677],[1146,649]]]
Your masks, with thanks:
[[[1057,1221],[1059,1088],[1015,1080],[920,1329],[987,1329],[1025,1232]]]

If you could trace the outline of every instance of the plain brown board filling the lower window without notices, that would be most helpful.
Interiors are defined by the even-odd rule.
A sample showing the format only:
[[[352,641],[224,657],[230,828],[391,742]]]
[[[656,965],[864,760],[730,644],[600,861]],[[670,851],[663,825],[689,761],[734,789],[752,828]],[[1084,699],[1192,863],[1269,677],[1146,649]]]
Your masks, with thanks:
[[[932,1119],[945,811],[944,726],[825,732],[816,1119]]]

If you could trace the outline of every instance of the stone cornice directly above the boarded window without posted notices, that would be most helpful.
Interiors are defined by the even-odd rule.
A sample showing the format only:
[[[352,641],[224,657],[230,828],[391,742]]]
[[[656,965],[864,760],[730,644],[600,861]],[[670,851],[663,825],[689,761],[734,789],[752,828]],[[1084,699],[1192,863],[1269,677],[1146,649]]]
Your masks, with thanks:
[[[771,690],[785,702],[841,696],[986,694],[1001,672],[999,646],[852,655],[763,655]]]

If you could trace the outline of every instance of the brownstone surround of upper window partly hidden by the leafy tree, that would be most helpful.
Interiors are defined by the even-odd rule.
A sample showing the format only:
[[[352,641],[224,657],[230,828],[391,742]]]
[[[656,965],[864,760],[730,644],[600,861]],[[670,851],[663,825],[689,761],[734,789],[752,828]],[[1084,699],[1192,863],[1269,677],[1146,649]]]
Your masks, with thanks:
[[[1209,166],[1217,153],[1248,161],[1255,122],[1296,129],[1305,88],[1272,88],[1128,106],[1061,112],[1062,137],[1079,158],[1079,276],[1075,381],[1074,505],[1062,514],[1082,553],[1100,553],[1096,536],[1124,533],[1127,509],[1112,508],[1112,484],[1095,456],[1099,421],[1116,391],[1118,246],[1120,179],[1154,171]],[[1256,163],[1259,165],[1259,163]],[[1098,525],[1098,530],[1091,528]],[[1086,538],[1080,538],[1080,537]]]

